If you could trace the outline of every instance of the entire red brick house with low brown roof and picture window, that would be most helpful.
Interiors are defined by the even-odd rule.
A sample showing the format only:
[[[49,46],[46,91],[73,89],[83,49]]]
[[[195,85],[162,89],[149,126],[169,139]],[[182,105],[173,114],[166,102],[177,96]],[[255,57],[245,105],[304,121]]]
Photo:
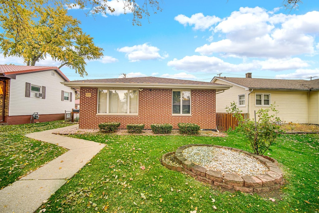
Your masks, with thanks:
[[[80,89],[79,128],[96,129],[103,122],[145,124],[195,123],[216,129],[216,92],[231,86],[157,77],[62,82]]]

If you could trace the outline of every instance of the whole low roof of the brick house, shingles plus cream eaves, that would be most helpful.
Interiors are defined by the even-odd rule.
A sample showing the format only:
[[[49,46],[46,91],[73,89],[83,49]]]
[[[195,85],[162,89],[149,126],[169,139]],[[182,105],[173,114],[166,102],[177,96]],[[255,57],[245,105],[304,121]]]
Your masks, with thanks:
[[[180,80],[158,77],[137,77],[117,79],[75,80],[63,82],[69,87],[115,87],[115,88],[191,88],[216,89],[218,91],[229,89],[232,86],[212,82]]]

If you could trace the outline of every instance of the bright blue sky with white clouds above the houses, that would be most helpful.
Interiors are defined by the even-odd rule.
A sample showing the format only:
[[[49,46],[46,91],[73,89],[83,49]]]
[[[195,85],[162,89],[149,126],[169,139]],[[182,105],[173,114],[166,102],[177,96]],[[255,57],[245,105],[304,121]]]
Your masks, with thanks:
[[[143,2],[143,1],[140,1]],[[307,79],[319,77],[319,4],[305,0],[286,10],[282,0],[160,1],[162,12],[142,26],[123,14],[122,1],[109,1],[114,14],[86,16],[87,10],[68,11],[83,32],[104,49],[103,59],[87,62],[80,77],[64,66],[70,80],[155,76],[210,81],[226,77]],[[1,64],[23,65],[15,57]],[[58,66],[48,56],[39,66]],[[313,79],[316,79],[315,77]]]

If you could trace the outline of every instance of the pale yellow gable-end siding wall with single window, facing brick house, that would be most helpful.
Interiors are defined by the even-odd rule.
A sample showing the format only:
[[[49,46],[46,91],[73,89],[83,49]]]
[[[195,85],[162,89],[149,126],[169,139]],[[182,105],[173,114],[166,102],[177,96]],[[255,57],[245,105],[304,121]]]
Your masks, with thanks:
[[[224,92],[216,93],[216,112],[226,112],[226,107],[230,106],[230,103],[235,102],[238,106],[238,95],[245,95],[245,106],[238,107],[243,113],[248,112],[248,93],[249,90],[245,88],[233,85],[229,82],[222,80],[216,80],[214,83],[231,85],[230,89],[226,89]]]

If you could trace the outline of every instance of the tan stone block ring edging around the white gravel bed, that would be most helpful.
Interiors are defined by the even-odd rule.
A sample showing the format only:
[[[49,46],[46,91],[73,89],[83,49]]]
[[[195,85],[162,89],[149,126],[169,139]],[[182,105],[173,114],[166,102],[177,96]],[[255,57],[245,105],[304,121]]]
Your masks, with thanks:
[[[251,156],[256,161],[267,167],[267,171],[256,175],[238,175],[233,173],[222,173],[220,171],[206,169],[203,166],[194,164],[187,160],[183,155],[183,151],[189,147],[206,146],[214,148],[224,148]],[[168,160],[169,156],[174,156],[174,162]],[[212,186],[219,186],[228,190],[237,190],[246,193],[256,192],[264,193],[279,189],[284,183],[283,173],[278,167],[278,162],[269,156],[259,156],[241,149],[222,147],[209,144],[189,144],[176,149],[175,152],[168,152],[162,156],[162,164],[171,170],[185,172],[190,176],[197,178],[199,181],[208,183]]]

